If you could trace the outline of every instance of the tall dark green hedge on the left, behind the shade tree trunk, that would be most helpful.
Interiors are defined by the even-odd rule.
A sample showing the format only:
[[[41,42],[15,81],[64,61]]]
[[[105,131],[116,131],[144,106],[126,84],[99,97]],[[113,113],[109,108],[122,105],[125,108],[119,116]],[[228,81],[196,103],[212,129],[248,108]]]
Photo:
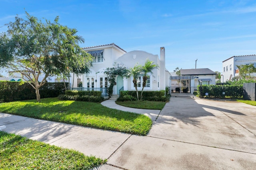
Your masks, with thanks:
[[[68,83],[66,83],[68,86]],[[64,93],[64,83],[46,82],[39,89],[40,98],[54,98]],[[36,99],[34,88],[28,82],[0,81],[0,103]]]

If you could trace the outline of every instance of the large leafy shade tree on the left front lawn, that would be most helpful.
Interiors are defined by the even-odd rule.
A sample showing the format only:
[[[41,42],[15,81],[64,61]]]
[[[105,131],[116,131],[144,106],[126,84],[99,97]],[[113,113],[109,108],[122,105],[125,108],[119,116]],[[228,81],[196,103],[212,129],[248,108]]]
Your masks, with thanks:
[[[0,34],[0,64],[27,80],[40,102],[39,88],[47,77],[87,73],[93,59],[79,47],[77,30],[58,23],[58,17],[42,22],[26,13],[26,18],[16,16]],[[40,75],[44,77],[38,82]]]

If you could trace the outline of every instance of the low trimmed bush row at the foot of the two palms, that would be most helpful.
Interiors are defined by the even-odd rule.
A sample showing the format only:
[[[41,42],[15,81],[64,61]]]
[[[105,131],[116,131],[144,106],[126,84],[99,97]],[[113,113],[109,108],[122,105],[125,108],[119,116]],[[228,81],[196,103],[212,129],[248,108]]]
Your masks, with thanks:
[[[140,98],[140,91],[139,98]],[[161,102],[168,102],[169,98],[165,96],[165,90],[160,91],[143,91],[142,94],[142,100],[148,100],[148,101],[161,101]],[[118,102],[124,102],[124,101],[134,101],[137,100],[137,94],[136,91],[121,91],[120,96],[117,99]]]

